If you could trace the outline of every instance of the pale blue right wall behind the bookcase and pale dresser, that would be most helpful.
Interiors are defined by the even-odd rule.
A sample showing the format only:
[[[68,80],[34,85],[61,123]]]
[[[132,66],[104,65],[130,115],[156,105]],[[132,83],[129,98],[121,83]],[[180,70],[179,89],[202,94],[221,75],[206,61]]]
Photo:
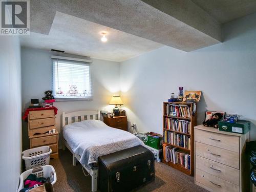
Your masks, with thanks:
[[[120,66],[121,95],[138,131],[162,133],[162,102],[178,87],[202,90],[198,124],[205,110],[237,113],[252,122],[256,140],[256,14],[223,26],[225,41],[193,52],[162,47]]]

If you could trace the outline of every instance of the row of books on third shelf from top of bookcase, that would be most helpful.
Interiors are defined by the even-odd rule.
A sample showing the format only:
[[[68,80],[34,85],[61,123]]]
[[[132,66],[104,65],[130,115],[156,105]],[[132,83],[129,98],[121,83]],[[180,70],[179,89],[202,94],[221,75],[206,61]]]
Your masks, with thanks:
[[[191,148],[190,136],[175,132],[163,131],[163,142],[187,148],[188,150]]]

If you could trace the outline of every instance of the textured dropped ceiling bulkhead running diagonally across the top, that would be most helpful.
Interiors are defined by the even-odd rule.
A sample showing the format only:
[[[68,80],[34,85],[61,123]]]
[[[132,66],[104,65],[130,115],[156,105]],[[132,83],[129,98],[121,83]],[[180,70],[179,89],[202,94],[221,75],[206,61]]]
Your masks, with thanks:
[[[183,51],[221,41],[221,28],[215,19],[189,0],[176,2],[180,9],[173,11],[175,15],[188,15],[184,21],[140,0],[31,0],[30,26],[32,32],[48,34],[59,11]],[[199,22],[191,26],[187,20]]]

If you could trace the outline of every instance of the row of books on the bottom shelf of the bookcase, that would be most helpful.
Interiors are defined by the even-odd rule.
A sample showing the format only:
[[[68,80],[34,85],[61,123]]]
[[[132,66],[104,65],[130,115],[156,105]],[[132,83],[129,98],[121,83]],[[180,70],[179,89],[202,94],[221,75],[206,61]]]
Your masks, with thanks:
[[[190,170],[190,154],[184,153],[177,147],[165,146],[165,161],[179,164]]]

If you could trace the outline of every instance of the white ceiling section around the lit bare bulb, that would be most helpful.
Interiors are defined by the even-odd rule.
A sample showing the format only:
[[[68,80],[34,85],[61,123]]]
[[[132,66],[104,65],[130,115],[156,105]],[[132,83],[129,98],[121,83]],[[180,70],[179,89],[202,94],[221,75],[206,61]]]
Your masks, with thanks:
[[[102,42],[102,32],[107,42]],[[123,61],[163,45],[135,35],[56,12],[48,35],[33,33],[20,36],[24,47],[57,49],[66,53],[105,60]]]

